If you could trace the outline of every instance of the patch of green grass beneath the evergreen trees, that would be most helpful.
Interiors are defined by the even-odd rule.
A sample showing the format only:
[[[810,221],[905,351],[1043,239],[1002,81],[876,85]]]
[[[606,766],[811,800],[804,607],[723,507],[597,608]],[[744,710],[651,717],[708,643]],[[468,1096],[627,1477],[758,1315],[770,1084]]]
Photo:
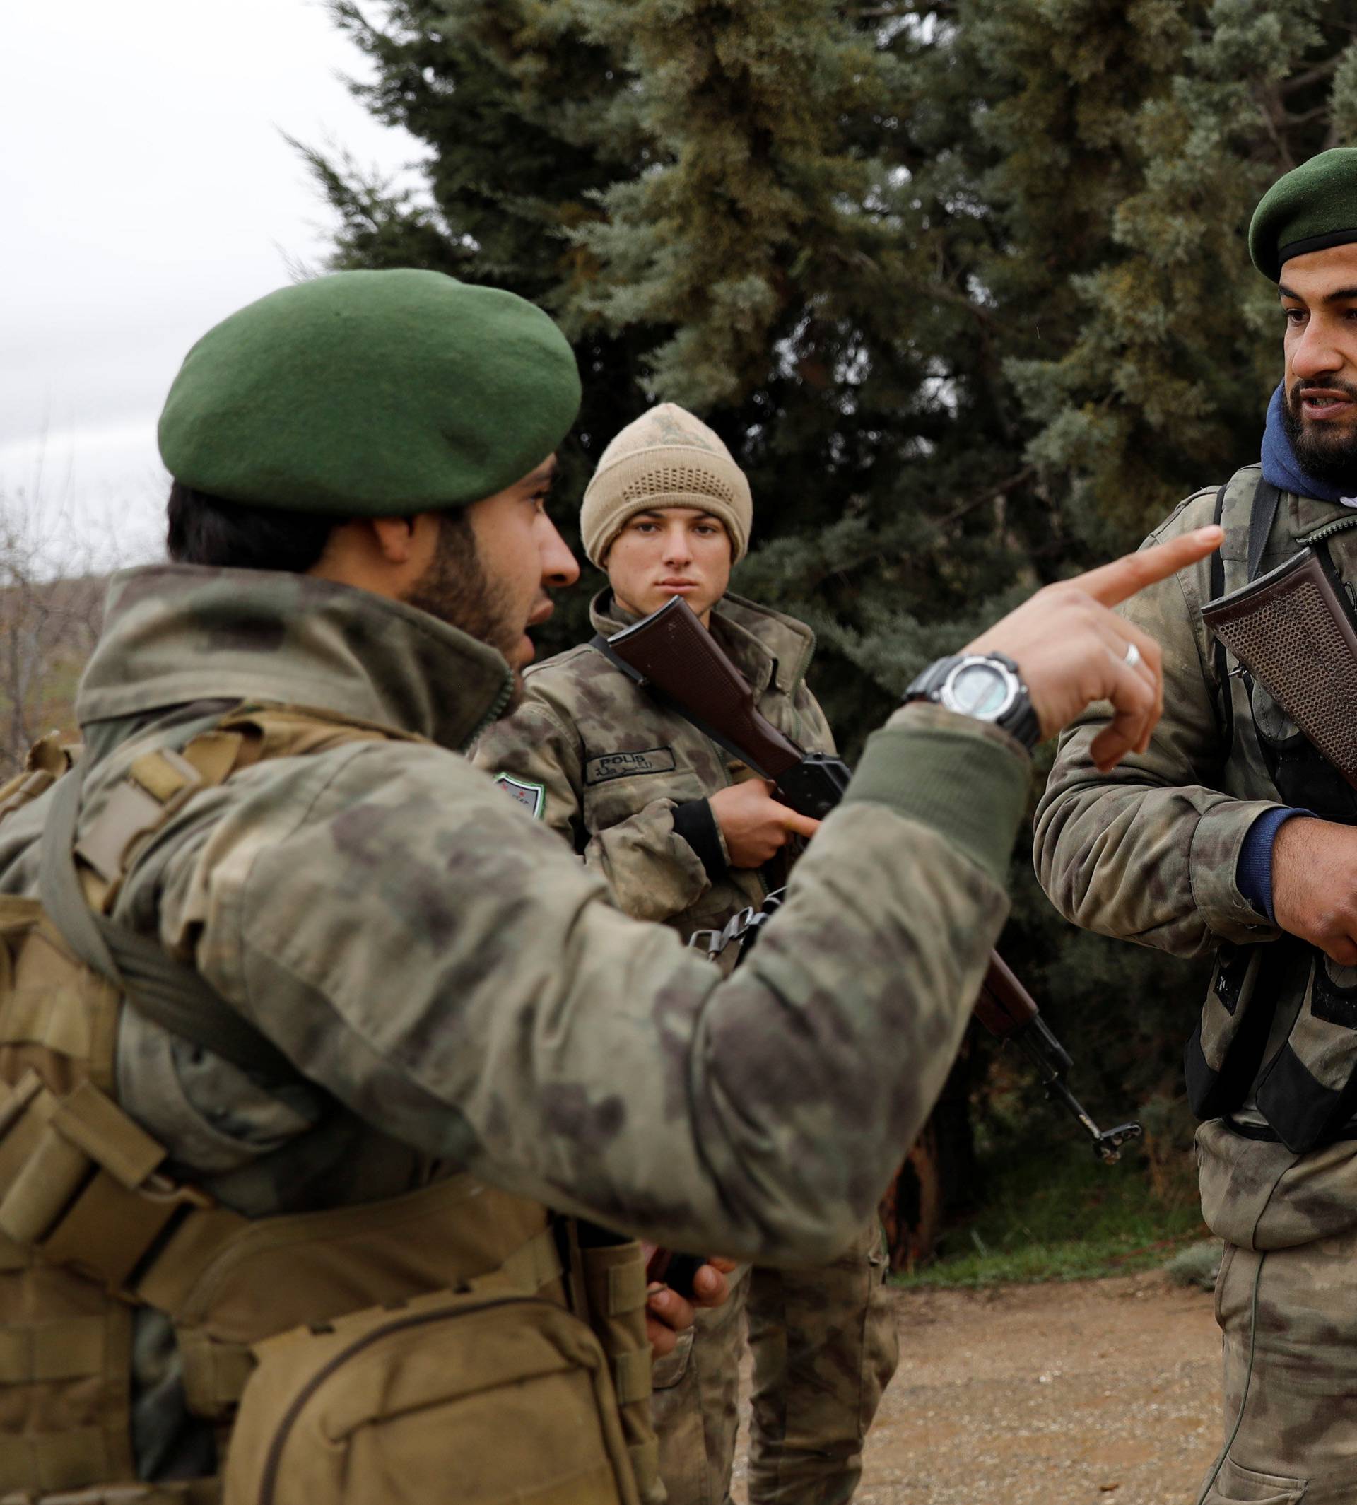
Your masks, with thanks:
[[[1192,1180],[1157,1195],[1139,1153],[1104,1166],[1082,1147],[1009,1148],[984,1165],[981,1210],[943,1234],[933,1263],[892,1281],[921,1288],[1128,1275],[1204,1234]]]

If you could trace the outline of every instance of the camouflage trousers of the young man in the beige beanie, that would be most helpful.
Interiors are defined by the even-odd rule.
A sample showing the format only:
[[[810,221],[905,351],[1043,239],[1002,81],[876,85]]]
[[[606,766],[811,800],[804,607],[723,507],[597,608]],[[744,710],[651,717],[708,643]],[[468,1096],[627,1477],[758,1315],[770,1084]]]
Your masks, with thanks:
[[[754,1353],[752,1505],[841,1505],[895,1373],[900,1342],[876,1219],[814,1270],[742,1266],[654,1371],[651,1412],[669,1505],[724,1505],[739,1424],[743,1329]]]

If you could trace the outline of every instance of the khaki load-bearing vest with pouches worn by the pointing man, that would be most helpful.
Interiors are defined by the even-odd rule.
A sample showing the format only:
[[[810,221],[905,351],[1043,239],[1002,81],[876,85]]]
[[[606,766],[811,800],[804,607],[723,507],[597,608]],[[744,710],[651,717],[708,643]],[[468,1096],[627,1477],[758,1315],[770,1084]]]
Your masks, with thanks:
[[[42,900],[0,895],[0,1505],[663,1499],[639,1246],[471,1175],[250,1219],[165,1171],[116,1100],[125,1002],[238,1066],[295,1079],[197,972],[107,920],[149,838],[262,759],[417,740],[247,704],[131,763],[75,846],[56,739],[0,789],[53,786]],[[138,1484],[132,1312],[170,1317],[224,1475]]]

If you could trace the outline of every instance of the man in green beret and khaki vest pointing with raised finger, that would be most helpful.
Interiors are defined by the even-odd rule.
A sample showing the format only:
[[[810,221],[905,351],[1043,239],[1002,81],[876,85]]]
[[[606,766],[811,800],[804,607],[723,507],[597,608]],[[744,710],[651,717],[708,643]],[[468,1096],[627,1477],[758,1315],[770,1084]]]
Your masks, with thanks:
[[[578,399],[540,310],[424,271],[272,293],[175,379],[172,563],[113,581],[75,766],[0,790],[5,1497],[659,1505],[692,1309],[630,1236],[847,1242],[1003,923],[1005,727],[1107,697],[1103,765],[1149,736],[1107,605],[1211,530],[898,710],[724,980],[462,754],[576,578]]]

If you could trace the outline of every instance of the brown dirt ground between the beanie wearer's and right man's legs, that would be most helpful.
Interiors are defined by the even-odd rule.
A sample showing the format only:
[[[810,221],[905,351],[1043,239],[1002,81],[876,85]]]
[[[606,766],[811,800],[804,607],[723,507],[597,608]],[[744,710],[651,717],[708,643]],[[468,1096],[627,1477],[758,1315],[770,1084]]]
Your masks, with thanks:
[[[892,1294],[900,1370],[867,1440],[858,1505],[1196,1499],[1220,1446],[1208,1293],[1152,1272]],[[734,1499],[746,1505],[743,1437],[740,1449]]]

